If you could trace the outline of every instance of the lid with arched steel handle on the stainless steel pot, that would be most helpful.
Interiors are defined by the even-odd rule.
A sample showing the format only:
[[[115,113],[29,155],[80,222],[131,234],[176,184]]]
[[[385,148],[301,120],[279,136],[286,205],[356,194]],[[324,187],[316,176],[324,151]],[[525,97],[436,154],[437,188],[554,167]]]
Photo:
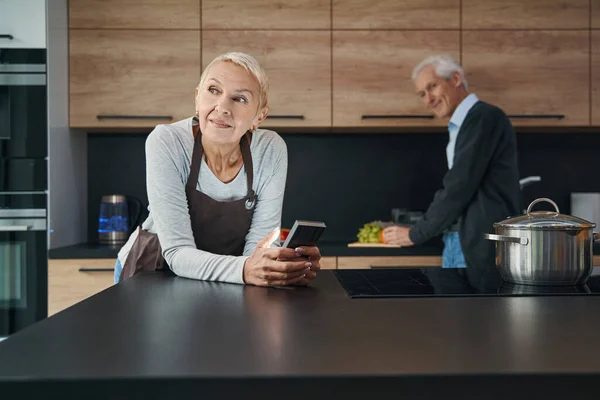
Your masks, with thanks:
[[[550,203],[554,206],[554,211],[531,211],[533,206],[540,202]],[[502,222],[497,222],[494,227],[512,228],[512,229],[586,229],[594,228],[596,224],[585,219],[574,217],[572,215],[561,214],[555,202],[547,198],[539,198],[529,204],[527,213],[518,217],[509,218]]]

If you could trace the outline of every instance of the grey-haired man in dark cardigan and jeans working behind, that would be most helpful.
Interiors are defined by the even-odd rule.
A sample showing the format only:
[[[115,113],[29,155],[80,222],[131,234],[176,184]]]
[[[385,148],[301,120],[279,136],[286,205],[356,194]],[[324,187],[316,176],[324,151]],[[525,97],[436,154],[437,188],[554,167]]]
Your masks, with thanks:
[[[495,272],[495,248],[483,234],[519,213],[515,131],[500,108],[469,93],[463,69],[450,56],[425,59],[412,79],[425,107],[449,121],[448,172],[424,217],[412,228],[386,228],[384,239],[413,246],[443,235],[442,266],[484,279]]]

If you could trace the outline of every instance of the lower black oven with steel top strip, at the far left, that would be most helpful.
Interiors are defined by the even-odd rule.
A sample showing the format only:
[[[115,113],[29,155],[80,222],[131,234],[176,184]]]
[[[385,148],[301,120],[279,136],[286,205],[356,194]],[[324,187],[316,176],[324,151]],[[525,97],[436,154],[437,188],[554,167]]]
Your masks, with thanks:
[[[0,209],[0,337],[48,313],[46,209]]]

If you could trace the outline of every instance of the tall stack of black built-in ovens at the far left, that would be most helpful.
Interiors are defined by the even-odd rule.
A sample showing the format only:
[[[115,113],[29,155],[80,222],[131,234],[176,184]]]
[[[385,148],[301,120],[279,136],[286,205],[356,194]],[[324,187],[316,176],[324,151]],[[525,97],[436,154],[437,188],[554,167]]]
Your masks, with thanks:
[[[45,49],[0,48],[0,337],[48,312]]]

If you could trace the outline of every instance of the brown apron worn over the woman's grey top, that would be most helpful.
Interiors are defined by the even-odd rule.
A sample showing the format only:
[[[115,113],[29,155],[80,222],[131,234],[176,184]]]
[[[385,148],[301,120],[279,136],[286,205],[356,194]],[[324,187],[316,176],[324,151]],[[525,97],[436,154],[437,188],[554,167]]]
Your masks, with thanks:
[[[194,241],[196,242],[196,248],[200,250],[231,256],[241,256],[244,252],[246,235],[250,230],[257,201],[257,196],[252,189],[254,171],[250,154],[251,139],[251,133],[248,132],[240,141],[242,159],[246,169],[246,185],[248,187],[246,197],[229,202],[217,201],[196,190],[204,153],[202,133],[198,129],[185,194],[192,221]],[[138,230],[138,237],[123,265],[119,282],[141,271],[169,269],[162,257],[162,248],[158,236],[155,233],[143,230],[141,227]]]

